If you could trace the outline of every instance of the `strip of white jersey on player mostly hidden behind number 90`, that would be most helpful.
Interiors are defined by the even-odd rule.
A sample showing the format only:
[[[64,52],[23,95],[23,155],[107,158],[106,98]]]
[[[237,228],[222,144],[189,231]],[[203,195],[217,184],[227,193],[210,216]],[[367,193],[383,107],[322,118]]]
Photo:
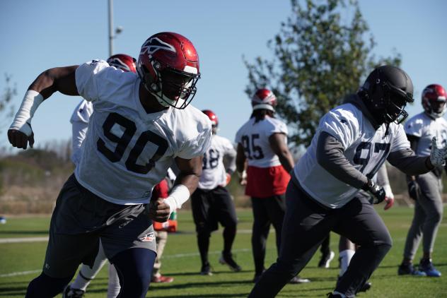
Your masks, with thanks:
[[[91,114],[93,114],[93,104],[82,100],[71,115],[71,161],[74,165],[78,165],[81,159],[81,145],[86,138]]]

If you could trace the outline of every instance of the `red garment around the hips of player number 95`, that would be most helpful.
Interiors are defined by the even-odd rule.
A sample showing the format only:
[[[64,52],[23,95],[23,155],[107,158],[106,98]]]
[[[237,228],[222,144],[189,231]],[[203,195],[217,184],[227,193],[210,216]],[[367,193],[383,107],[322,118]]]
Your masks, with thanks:
[[[247,169],[245,194],[255,198],[267,198],[286,192],[290,175],[284,167],[252,167]]]

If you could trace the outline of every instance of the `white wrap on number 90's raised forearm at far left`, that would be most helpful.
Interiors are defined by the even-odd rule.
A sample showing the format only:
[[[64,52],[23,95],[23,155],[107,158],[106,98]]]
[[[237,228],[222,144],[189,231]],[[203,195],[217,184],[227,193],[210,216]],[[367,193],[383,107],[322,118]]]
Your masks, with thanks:
[[[16,129],[31,136],[31,119],[33,119],[34,112],[43,102],[43,96],[34,90],[28,90],[23,97],[22,105],[14,117],[13,123],[9,129]]]

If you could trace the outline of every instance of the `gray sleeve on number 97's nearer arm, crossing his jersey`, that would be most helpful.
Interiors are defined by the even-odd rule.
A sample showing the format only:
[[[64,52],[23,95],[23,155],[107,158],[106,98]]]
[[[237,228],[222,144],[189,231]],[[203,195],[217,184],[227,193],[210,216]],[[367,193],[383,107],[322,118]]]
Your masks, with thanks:
[[[320,133],[316,153],[318,164],[340,181],[361,189],[368,183],[368,178],[351,165],[343,153],[343,145],[337,138],[325,131]]]

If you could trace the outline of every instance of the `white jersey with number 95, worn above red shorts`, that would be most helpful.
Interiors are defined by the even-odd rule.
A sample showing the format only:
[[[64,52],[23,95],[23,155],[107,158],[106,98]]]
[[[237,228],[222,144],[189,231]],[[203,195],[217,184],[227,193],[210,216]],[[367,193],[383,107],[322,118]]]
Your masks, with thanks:
[[[276,167],[281,165],[269,143],[273,133],[284,133],[287,136],[287,126],[284,122],[266,116],[255,123],[255,117],[250,118],[236,133],[236,143],[243,146],[248,165],[252,167]],[[286,139],[286,138],[285,138]]]

